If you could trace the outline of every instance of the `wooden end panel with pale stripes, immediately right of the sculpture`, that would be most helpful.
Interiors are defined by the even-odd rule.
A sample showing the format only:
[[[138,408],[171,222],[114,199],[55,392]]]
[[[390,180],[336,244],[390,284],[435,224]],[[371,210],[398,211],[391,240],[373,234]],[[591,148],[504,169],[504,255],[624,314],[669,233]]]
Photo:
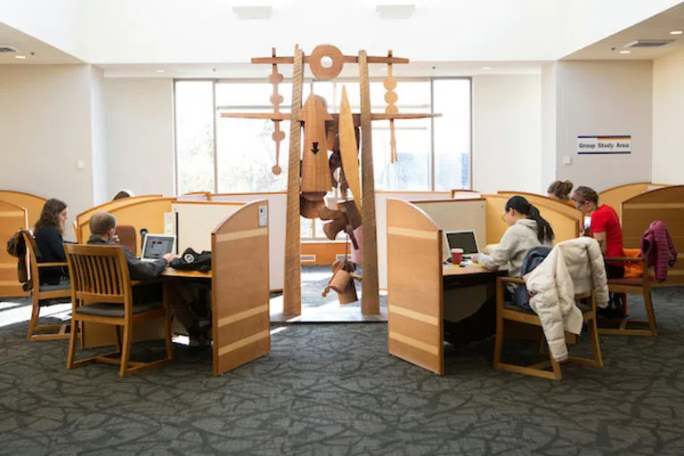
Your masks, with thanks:
[[[387,199],[390,354],[444,374],[442,230],[422,210]]]

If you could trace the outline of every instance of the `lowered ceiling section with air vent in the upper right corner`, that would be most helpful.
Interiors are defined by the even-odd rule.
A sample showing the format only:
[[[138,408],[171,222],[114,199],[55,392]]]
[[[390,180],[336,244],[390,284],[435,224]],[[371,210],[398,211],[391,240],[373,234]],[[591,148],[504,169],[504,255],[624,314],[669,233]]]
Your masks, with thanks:
[[[666,53],[684,49],[684,35],[670,35],[672,30],[684,31],[684,4],[656,14],[638,24],[626,28],[611,37],[600,40],[575,53],[567,55],[563,60],[653,60]],[[625,45],[637,40],[664,39],[674,40],[669,45],[653,48],[625,48]],[[621,54],[629,49],[631,53]]]

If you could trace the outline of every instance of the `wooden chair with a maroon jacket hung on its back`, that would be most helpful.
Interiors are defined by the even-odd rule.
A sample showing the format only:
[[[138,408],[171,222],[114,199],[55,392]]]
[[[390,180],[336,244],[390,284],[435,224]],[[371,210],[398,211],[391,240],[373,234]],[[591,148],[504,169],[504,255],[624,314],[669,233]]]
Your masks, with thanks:
[[[643,265],[643,274],[641,277],[625,277],[623,279],[608,279],[608,291],[611,293],[623,294],[623,303],[627,305],[627,295],[641,295],[644,297],[644,307],[646,307],[647,322],[639,320],[630,320],[628,318],[621,318],[619,320],[606,320],[606,324],[615,322],[614,327],[607,327],[603,319],[599,327],[599,334],[607,335],[623,335],[623,336],[655,336],[657,325],[655,323],[655,310],[653,308],[653,299],[651,298],[651,279],[650,268],[646,265],[646,260],[642,257],[630,256],[611,256],[607,257],[606,261],[621,262],[621,263],[641,263]],[[630,328],[632,327],[632,328]],[[636,327],[636,328],[633,328]]]

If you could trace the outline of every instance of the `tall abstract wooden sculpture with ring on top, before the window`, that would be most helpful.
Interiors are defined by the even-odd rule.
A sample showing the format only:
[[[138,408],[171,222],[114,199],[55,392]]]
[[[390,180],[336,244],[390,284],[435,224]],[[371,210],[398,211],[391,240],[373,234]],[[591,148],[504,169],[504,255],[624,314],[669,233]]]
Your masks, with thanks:
[[[323,65],[322,59],[330,59],[330,65]],[[399,114],[395,103],[397,95],[394,90],[396,80],[392,75],[392,65],[408,63],[408,59],[396,58],[392,51],[387,57],[368,56],[365,51],[358,55],[343,55],[333,45],[318,45],[310,55],[305,55],[299,46],[295,46],[294,56],[277,57],[273,48],[270,57],[253,58],[252,63],[269,64],[272,73],[268,81],[273,84],[271,113],[222,113],[224,118],[270,118],[275,123],[273,141],[275,142],[275,165],[273,174],[281,173],[279,166],[280,142],[284,139],[281,132],[281,121],[289,120],[289,160],[288,160],[288,197],[285,226],[285,276],[283,284],[283,314],[301,314],[301,244],[299,217],[320,217],[330,222],[323,227],[330,239],[335,239],[338,232],[344,230],[355,248],[362,250],[362,314],[379,314],[379,281],[378,281],[378,240],[375,223],[375,175],[373,172],[373,152],[371,141],[371,121],[390,121],[391,161],[397,159],[395,140],[395,119],[430,118],[438,114]],[[339,115],[327,110],[325,101],[314,94],[310,95],[302,105],[302,85],[304,64],[309,65],[314,77],[318,79],[334,79],[338,77],[345,63],[358,63],[361,86],[361,113],[351,112],[343,87],[342,103]],[[387,78],[384,81],[387,94],[387,108],[383,114],[371,113],[371,85],[368,65],[370,63],[387,64]],[[282,75],[278,72],[279,64],[291,64],[292,70],[292,109],[289,114],[279,109],[282,96],[278,94],[278,84]],[[301,128],[304,126],[304,143],[301,141]],[[361,128],[361,171],[358,158],[358,129]],[[338,141],[336,141],[338,138]],[[338,146],[335,144],[338,143]],[[339,149],[339,152],[337,151]],[[329,151],[334,151],[330,155]],[[341,167],[341,171],[338,169]],[[298,172],[297,172],[298,171]],[[339,173],[336,179],[335,173]],[[345,201],[338,209],[327,208],[323,197],[333,185],[339,185],[345,195]],[[354,199],[346,199],[347,188]],[[359,214],[359,211],[361,213]],[[363,226],[362,241],[359,244],[354,237],[354,230]],[[353,274],[346,256],[343,265],[333,267],[333,278],[329,289],[335,289],[340,296],[340,303],[356,300],[354,279],[361,277]],[[354,264],[351,264],[354,266]],[[348,274],[347,278],[345,274]],[[325,293],[328,292],[326,289]]]

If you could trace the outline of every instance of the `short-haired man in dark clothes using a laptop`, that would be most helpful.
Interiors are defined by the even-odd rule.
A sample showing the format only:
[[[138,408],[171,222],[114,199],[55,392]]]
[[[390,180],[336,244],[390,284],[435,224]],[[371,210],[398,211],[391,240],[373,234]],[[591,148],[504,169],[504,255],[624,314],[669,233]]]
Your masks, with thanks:
[[[118,246],[117,219],[115,216],[107,212],[96,212],[90,217],[90,232],[91,236],[88,240],[89,245],[113,245]],[[119,246],[124,249],[126,255],[126,263],[128,264],[128,272],[133,281],[153,281],[157,279],[161,273],[167,268],[178,256],[167,253],[154,262],[144,262],[135,254],[124,246]],[[194,312],[191,311],[191,305],[195,305],[196,298],[195,289],[185,287],[177,282],[172,282],[170,287],[173,288],[170,292],[170,299],[168,303],[171,310],[181,324],[188,331],[191,337],[191,346],[206,346],[208,345],[207,335],[210,329],[210,322],[208,320],[200,319]],[[161,296],[159,289],[146,290],[145,293],[134,293],[134,301],[140,303],[149,300],[160,300]]]

